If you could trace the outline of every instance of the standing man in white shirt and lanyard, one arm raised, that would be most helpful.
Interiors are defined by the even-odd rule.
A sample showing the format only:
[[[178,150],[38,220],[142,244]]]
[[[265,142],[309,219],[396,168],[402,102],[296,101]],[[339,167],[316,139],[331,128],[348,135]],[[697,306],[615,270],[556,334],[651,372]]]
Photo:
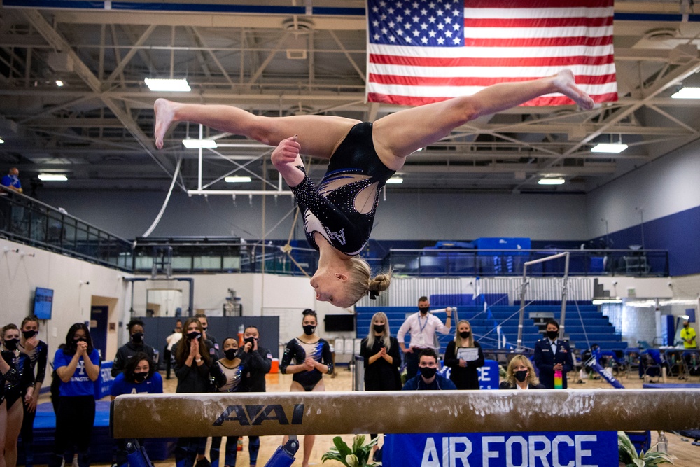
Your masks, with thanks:
[[[406,378],[411,379],[418,373],[419,353],[423,349],[435,349],[435,331],[449,334],[452,309],[447,307],[447,321],[442,324],[440,318],[430,313],[428,297],[418,299],[418,312],[409,316],[398,330],[396,338],[401,351],[405,354]],[[406,333],[411,335],[409,346],[404,342]]]

